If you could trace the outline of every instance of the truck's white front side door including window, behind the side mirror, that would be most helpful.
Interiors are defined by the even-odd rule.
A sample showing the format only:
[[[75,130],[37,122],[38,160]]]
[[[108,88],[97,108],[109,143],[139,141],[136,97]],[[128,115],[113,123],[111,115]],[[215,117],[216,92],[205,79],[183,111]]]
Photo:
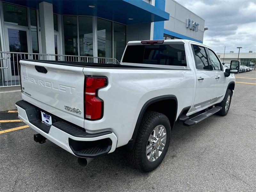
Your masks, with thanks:
[[[223,67],[217,55],[211,49],[207,49],[207,51],[209,55],[209,63],[210,65],[212,65],[215,74],[213,99],[217,101],[225,95],[227,90],[228,79],[224,76]]]

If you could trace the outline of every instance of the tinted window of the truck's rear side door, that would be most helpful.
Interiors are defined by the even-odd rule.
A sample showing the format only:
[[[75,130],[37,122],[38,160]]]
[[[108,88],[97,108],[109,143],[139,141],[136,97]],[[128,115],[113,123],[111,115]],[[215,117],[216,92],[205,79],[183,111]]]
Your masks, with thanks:
[[[193,49],[195,52],[196,68],[200,70],[210,70],[204,47],[193,45]]]

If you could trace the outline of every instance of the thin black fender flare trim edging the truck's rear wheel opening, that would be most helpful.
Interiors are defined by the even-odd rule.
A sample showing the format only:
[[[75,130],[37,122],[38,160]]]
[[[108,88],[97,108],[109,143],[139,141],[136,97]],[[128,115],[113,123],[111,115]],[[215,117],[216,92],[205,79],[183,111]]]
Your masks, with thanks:
[[[163,95],[163,96],[158,96],[158,97],[152,98],[152,99],[148,100],[142,106],[142,108],[140,109],[140,113],[139,113],[139,116],[137,118],[137,122],[136,122],[135,128],[133,130],[132,138],[129,140],[128,144],[126,144],[126,148],[127,149],[132,150],[132,148],[134,146],[137,134],[139,132],[140,122],[141,122],[142,117],[143,117],[146,109],[148,108],[148,106],[150,106],[151,104],[156,103],[158,101],[162,101],[162,100],[174,100],[176,102],[175,117],[174,117],[173,123],[171,123],[171,126],[173,128],[173,126],[175,124],[175,121],[176,121],[177,110],[178,110],[178,100],[177,100],[177,97],[175,95]]]

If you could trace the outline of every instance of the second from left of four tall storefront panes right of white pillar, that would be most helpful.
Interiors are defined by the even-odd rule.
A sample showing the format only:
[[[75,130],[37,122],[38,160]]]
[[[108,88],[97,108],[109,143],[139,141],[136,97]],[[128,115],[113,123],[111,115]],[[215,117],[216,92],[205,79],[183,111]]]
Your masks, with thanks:
[[[79,17],[79,49],[81,56],[93,56],[92,17]]]

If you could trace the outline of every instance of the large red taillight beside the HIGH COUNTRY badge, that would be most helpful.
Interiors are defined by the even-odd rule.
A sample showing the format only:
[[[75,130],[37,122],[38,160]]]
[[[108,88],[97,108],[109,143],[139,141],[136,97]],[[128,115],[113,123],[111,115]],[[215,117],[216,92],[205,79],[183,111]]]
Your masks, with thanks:
[[[107,85],[105,77],[85,77],[84,85],[84,118],[100,119],[103,115],[103,101],[98,98],[98,89]]]

